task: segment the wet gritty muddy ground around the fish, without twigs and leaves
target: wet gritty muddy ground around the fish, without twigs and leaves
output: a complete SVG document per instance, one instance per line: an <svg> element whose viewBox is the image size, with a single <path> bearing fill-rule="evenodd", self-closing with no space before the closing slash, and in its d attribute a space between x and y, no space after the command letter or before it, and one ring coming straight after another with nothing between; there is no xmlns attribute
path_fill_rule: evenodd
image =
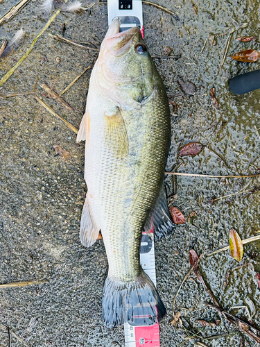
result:
<svg viewBox="0 0 260 347"><path fill-rule="evenodd" d="M18 1L0 2L0 15ZM229 58L243 49L260 49L259 1L176 0L157 3L171 8L180 20L144 4L146 43L150 52L162 55L164 48L181 54L179 60L156 59L166 90L176 104L172 112L172 144L167 170L214 175L259 173L259 97L260 90L235 96L228 80L236 74L259 68L259 62L236 62ZM89 5L90 1L83 1ZM39 1L28 1L9 22L0 26L0 38L10 38L21 27L24 43L8 58L0 60L2 77L24 55L33 38L46 24L38 12ZM54 12L53 12L54 13ZM220 61L227 35L219 35L216 45L207 43L209 33L224 34L235 25L248 23L231 37L227 59ZM107 30L107 6L96 5L80 15L62 14L44 32L28 58L0 88L0 94L33 90L35 76L49 86L55 83L60 93L97 58L97 51L58 42L49 36L59 33L70 40L90 41L99 46ZM235 37L256 36L255 42L237 42ZM50 99L37 85L40 96L55 112L78 128L85 110L89 69L63 97L75 112ZM194 96L182 94L178 76L198 87ZM218 110L209 96L216 88ZM97 105L98 107L98 105ZM48 280L31 287L0 291L0 323L10 327L30 346L112 347L124 346L123 328L108 330L101 319L103 283L107 260L103 241L86 249L78 231L83 200L87 190L83 178L84 143L60 119L49 114L33 95L0 98L0 182L1 234L0 282ZM178 150L188 142L200 142L205 149L195 157L178 158ZM55 153L54 145L69 152L69 158ZM149 179L149 178L147 178ZM177 347L187 337L171 327L173 298L190 269L189 250L209 253L228 244L230 228L242 239L257 235L259 226L259 178L166 177L168 196L180 208L186 223L155 244L157 288L168 310L160 324L161 345ZM240 191L240 192L239 192ZM238 194L235 194L239 192ZM223 197L227 196L227 197ZM220 198L214 204L213 198ZM191 212L196 217L188 222ZM256 273L260 272L260 243L245 246L238 263L229 251L204 257L200 270L216 299L225 310L247 319L247 305L253 321L260 326L260 291ZM237 266L244 265L239 269ZM229 279L225 280L229 273ZM206 346L257 346L257 343L229 325L206 306L210 298L194 276L183 285L175 310L180 310L184 325L203 336L221 335L204 340ZM255 308L254 308L255 307ZM198 319L216 322L217 327L202 328ZM185 346L194 346L191 339ZM0 346L8 346L8 334L0 328ZM12 337L12 347L23 346ZM184 346L184 344L182 345Z"/></svg>

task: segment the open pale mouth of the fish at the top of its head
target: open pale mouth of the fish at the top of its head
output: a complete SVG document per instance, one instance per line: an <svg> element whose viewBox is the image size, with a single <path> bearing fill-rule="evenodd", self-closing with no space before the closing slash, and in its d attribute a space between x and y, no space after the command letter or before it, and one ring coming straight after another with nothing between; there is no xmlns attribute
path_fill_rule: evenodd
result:
<svg viewBox="0 0 260 347"><path fill-rule="evenodd" d="M119 33L120 24L120 18L115 18L113 20L109 30L107 31L107 37L105 40L105 46L107 46L110 51L119 54L126 53L126 51L130 49L134 37L136 37L137 42L141 40L141 31L138 26L133 26L132 28Z"/></svg>

